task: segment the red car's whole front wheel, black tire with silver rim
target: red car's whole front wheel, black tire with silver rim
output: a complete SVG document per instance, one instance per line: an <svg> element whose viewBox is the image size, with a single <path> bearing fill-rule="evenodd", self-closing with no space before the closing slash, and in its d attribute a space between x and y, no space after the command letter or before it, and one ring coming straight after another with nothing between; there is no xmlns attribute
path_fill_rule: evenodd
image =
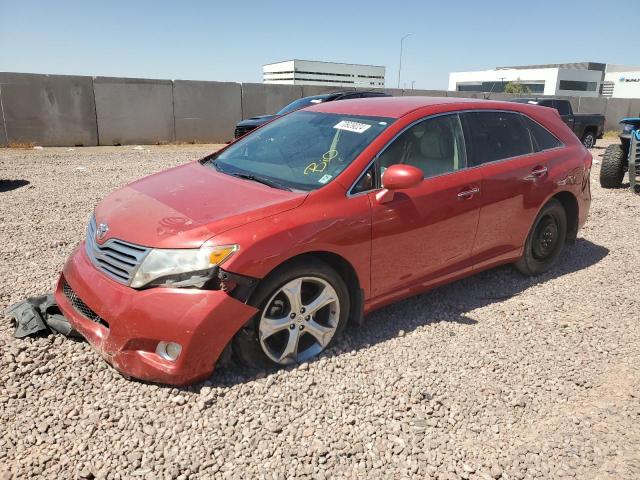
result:
<svg viewBox="0 0 640 480"><path fill-rule="evenodd" d="M236 334L233 351L241 363L253 368L310 360L334 343L349 316L344 280L316 259L276 269L250 303L260 311Z"/></svg>

